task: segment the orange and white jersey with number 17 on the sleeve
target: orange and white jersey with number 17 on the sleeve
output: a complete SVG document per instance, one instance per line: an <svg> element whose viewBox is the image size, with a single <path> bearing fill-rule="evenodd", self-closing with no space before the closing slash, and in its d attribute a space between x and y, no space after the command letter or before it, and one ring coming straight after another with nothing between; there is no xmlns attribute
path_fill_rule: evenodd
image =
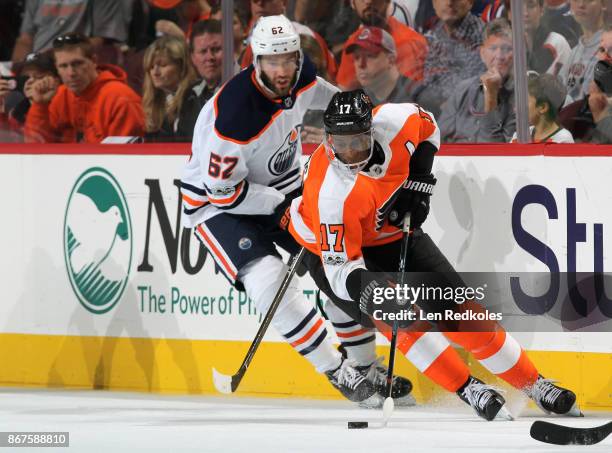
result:
<svg viewBox="0 0 612 453"><path fill-rule="evenodd" d="M373 137L384 159L351 176L331 165L320 145L304 169L302 196L291 205L291 234L321 257L332 289L347 300L346 278L366 268L361 248L401 237L386 216L408 179L412 153L424 141L440 146L433 116L416 104L383 104L373 116Z"/></svg>

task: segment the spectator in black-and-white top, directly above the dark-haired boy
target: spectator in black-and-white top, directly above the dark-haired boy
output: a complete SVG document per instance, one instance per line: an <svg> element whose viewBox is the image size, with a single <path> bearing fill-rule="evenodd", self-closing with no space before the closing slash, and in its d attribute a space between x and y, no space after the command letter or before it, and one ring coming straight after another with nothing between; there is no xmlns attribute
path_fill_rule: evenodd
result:
<svg viewBox="0 0 612 453"><path fill-rule="evenodd" d="M527 68L538 74L557 75L567 63L572 49L562 35L551 31L541 20L543 11L544 0L524 0L523 26L527 44Z"/></svg>

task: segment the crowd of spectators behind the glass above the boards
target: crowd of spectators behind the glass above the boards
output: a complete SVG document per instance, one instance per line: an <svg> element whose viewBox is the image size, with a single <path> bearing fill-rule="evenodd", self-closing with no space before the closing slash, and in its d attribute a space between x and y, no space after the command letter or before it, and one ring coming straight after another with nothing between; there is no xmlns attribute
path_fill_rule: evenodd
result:
<svg viewBox="0 0 612 453"><path fill-rule="evenodd" d="M222 82L220 3L0 0L0 142L191 141ZM285 14L340 88L420 104L444 142L516 140L509 0L234 6L236 72L259 17ZM612 143L612 0L524 0L521 17L532 141ZM320 139L309 112L302 140Z"/></svg>

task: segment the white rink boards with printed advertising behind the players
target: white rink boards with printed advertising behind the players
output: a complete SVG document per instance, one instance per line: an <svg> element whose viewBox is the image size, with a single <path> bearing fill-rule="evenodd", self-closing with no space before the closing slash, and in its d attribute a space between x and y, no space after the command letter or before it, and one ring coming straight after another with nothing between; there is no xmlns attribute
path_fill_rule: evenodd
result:
<svg viewBox="0 0 612 453"><path fill-rule="evenodd" d="M0 275L4 288L0 332L252 339L258 314L252 306L249 312L244 296L242 304L239 303L238 293L230 292L224 277L215 274L210 256L197 275L185 272L180 256L176 271L172 272L155 210L151 216L148 251L148 263L153 271L138 270L145 255L150 187L159 186L174 234L179 198L173 181L179 177L185 159L185 156L157 155L0 155L3 187L0 197L4 214L0 239ZM441 156L436 161L438 185L426 230L459 270L544 271L543 263L517 244L511 224L516 194L526 186L539 185L554 198L558 218L549 219L543 205L531 204L523 209L521 224L550 247L563 271L567 255L567 191L575 189L576 219L586 224L586 242L577 245L577 269L593 270L593 225L597 223L603 224L604 270L610 271L612 166L609 159ZM116 179L125 194L132 225L127 287L114 308L104 314L93 314L79 303L64 257L68 200L75 182L92 167L101 167ZM189 245L193 265L199 245L193 237ZM314 290L308 279L302 279L301 286L307 291ZM143 291L139 287L150 287L156 296L164 295L165 312L159 306L157 311L150 309L149 298L143 304ZM183 296L208 298L208 314L201 313L201 305L198 313L182 312L180 302L171 303L172 288L175 288L174 294L179 291ZM223 307L225 313L221 314ZM530 349L612 352L610 333L517 336ZM281 341L281 338L270 332L266 340Z"/></svg>

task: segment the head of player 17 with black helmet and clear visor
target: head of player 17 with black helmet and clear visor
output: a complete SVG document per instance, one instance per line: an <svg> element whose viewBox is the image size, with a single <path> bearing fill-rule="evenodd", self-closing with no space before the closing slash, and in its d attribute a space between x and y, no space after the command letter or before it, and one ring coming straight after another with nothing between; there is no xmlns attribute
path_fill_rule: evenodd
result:
<svg viewBox="0 0 612 453"><path fill-rule="evenodd" d="M325 150L332 165L356 175L372 157L372 102L363 90L336 93L323 116Z"/></svg>

